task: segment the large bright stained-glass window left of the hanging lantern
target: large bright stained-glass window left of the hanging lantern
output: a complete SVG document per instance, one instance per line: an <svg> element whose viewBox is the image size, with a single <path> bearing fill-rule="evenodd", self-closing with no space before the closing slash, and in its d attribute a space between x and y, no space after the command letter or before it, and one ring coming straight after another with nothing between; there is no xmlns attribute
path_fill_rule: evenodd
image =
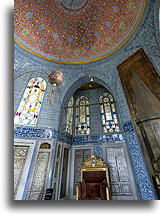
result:
<svg viewBox="0 0 160 214"><path fill-rule="evenodd" d="M29 81L14 117L15 124L36 125L45 89L46 81L41 77Z"/></svg>

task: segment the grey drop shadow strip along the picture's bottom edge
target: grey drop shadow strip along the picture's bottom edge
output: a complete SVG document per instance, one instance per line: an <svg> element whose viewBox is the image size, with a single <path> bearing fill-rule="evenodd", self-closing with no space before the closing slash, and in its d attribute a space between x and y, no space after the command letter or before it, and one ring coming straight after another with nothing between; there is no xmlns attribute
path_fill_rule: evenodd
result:
<svg viewBox="0 0 160 214"><path fill-rule="evenodd" d="M103 211L111 211L111 210L121 210L121 209L129 209L136 208L136 210L144 210L144 208L152 209L155 205L155 201L10 201L10 206L13 207L26 207L32 209L32 211L40 207L40 209L75 209L81 208L81 210L90 211L91 208L94 210L103 209Z"/></svg>

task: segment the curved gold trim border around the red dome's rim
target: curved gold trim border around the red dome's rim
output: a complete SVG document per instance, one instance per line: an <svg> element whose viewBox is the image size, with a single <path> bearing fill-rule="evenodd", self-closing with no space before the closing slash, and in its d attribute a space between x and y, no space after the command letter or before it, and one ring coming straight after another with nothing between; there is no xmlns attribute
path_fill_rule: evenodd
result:
<svg viewBox="0 0 160 214"><path fill-rule="evenodd" d="M30 50L29 48L25 47L24 45L22 45L20 42L18 42L15 38L14 38L14 42L19 45L21 48L23 48L24 50L26 50L27 52L37 56L37 57L40 57L42 59L45 59L45 60L48 60L48 61L51 61L51 62L56 62L56 63L60 63L60 64L86 64L86 63L90 63L90 62L96 62L100 59L104 59L108 56L110 56L111 54L113 54L114 52L116 52L117 50L119 50L130 38L131 36L133 35L133 33L135 32L135 30L137 29L142 17L143 17L143 14L144 14L144 11L145 11L145 8L146 8L146 5L147 5L147 0L144 0L144 5L143 5L143 8L142 8L142 12L139 16L139 19L135 25L135 27L133 28L132 32L130 33L130 35L124 40L124 42L122 42L117 48L115 48L114 50L112 50L111 52L109 52L108 54L105 54L103 56L100 56L98 58L95 58L95 59L91 59L91 60L87 60L87 61L82 61L82 62L65 62L65 61L58 61L58 60L55 60L55 59L50 59L48 57L45 57L45 56L42 56L32 50Z"/></svg>

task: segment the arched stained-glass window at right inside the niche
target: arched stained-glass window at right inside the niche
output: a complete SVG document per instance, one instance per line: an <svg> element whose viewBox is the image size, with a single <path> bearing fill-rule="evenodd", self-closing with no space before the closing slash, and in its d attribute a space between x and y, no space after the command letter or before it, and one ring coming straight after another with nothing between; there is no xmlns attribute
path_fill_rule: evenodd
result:
<svg viewBox="0 0 160 214"><path fill-rule="evenodd" d="M118 132L119 125L112 95L109 93L104 93L99 99L103 132Z"/></svg>

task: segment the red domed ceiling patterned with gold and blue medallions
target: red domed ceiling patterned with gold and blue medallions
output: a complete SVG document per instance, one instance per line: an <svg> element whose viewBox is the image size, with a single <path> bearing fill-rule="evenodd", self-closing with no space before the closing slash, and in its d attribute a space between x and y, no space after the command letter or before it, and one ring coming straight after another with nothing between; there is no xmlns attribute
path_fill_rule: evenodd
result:
<svg viewBox="0 0 160 214"><path fill-rule="evenodd" d="M55 62L87 63L118 50L146 0L15 0L15 41Z"/></svg>

